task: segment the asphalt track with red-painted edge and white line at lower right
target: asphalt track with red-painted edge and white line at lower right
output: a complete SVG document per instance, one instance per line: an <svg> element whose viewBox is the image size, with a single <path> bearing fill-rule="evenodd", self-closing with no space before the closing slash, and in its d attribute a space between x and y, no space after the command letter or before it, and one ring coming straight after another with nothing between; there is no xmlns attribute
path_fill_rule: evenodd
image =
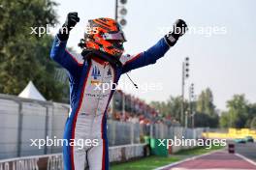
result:
<svg viewBox="0 0 256 170"><path fill-rule="evenodd" d="M254 160L254 161L253 161ZM256 170L256 144L236 144L236 154L227 150L194 156L157 170Z"/></svg>

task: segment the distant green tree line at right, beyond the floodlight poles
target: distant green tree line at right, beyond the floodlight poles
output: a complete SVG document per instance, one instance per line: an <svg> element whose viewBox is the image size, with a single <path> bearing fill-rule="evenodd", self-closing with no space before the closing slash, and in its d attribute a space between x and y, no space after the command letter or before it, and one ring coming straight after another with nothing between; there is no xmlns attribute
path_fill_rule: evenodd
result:
<svg viewBox="0 0 256 170"><path fill-rule="evenodd" d="M171 117L180 122L181 97L170 97L166 101L152 101L154 106L164 117ZM254 128L256 129L256 103L250 103L244 95L234 95L227 102L227 110L216 109L212 91L203 90L197 99L184 100L184 110L188 114L188 127L208 128Z"/></svg>

